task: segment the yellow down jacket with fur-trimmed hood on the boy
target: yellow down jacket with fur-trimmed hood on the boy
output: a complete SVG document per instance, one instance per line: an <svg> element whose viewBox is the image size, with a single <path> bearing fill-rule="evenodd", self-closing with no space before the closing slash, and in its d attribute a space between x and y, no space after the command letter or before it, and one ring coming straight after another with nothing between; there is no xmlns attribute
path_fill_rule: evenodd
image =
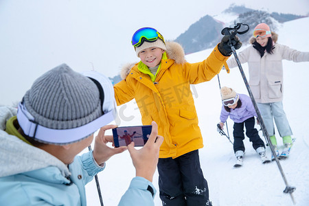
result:
<svg viewBox="0 0 309 206"><path fill-rule="evenodd" d="M155 82L137 69L137 64L122 68L123 80L114 86L117 105L135 98L144 125L157 122L159 135L164 137L160 158L176 158L203 148L203 137L190 84L206 82L220 72L229 58L218 51L218 46L203 62L185 61L183 48L178 43L166 43L168 59L161 60Z"/></svg>

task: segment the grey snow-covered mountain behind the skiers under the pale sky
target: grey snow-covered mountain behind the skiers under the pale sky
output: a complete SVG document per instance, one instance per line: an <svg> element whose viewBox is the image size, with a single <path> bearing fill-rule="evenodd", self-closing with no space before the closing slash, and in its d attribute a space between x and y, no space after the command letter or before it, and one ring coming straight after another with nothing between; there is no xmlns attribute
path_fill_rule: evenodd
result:
<svg viewBox="0 0 309 206"><path fill-rule="evenodd" d="M214 47L220 41L221 30L224 27L233 27L236 23L246 23L249 25L249 32L240 36L241 41L247 43L252 35L253 28L258 23L267 23L276 32L280 23L301 17L304 16L279 14L277 12L270 13L262 10L249 9L244 5L232 4L220 14L203 16L174 41L183 46L185 54L191 54Z"/></svg>

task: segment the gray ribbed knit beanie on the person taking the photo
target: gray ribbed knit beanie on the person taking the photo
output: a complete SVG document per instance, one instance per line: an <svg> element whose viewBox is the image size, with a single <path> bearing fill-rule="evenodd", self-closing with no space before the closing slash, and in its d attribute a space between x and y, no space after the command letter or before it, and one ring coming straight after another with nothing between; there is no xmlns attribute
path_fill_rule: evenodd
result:
<svg viewBox="0 0 309 206"><path fill-rule="evenodd" d="M38 78L23 102L35 121L47 128L76 128L103 115L98 87L65 64Z"/></svg>

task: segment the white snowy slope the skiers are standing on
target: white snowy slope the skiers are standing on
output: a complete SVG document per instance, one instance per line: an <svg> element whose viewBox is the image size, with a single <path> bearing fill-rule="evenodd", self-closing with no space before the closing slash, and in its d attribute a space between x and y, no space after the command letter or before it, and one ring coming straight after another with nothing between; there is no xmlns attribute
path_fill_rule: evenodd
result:
<svg viewBox="0 0 309 206"><path fill-rule="evenodd" d="M279 29L278 42L302 52L309 52L308 27L309 17L284 23ZM246 45L244 47L247 47ZM188 55L188 62L203 60L211 50ZM297 189L293 193L296 205L309 205L309 137L308 137L308 77L309 62L289 62L284 60L284 108L293 137L297 138L288 159L280 161L289 185ZM247 64L242 65L247 73ZM247 75L248 76L248 75ZM231 73L220 73L221 86L232 87L238 93L247 93L238 68ZM290 196L284 194L286 187L275 162L263 165L253 150L249 139L245 139L246 155L242 168L233 168L235 161L231 143L216 131L220 115L220 92L218 78L192 87L199 125L202 130L205 147L200 150L201 166L209 184L209 195L216 206L286 206L293 205ZM119 108L122 119L120 126L141 124L139 111L135 102L129 102ZM130 119L130 121L124 121ZM233 122L228 119L229 135L232 138ZM260 128L260 126L257 126ZM225 130L225 132L227 132ZM262 134L262 132L260 132ZM278 135L277 135L278 136ZM264 140L264 137L262 137ZM278 144L282 141L277 137ZM268 157L271 156L267 148ZM104 205L117 205L122 194L128 188L135 170L126 151L112 157L106 170L98 177L102 190ZM158 187L158 174L155 173L154 184ZM100 205L95 181L87 185L89 205ZM159 192L155 196L155 205L161 205Z"/></svg>

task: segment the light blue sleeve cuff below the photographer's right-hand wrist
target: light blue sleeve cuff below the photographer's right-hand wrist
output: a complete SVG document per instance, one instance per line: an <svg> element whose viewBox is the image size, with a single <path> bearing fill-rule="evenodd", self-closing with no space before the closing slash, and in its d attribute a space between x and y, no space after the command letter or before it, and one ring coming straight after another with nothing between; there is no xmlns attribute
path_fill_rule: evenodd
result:
<svg viewBox="0 0 309 206"><path fill-rule="evenodd" d="M152 187L154 195L147 190L148 186ZM155 205L153 198L155 197L156 189L152 183L144 177L136 176L132 179L128 190L122 196L118 206L152 206Z"/></svg>

